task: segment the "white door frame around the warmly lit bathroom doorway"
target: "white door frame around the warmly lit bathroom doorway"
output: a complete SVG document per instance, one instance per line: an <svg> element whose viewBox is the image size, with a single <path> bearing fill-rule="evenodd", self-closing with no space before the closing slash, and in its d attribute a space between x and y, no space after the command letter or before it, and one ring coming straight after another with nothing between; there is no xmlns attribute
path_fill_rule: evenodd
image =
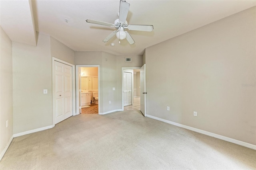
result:
<svg viewBox="0 0 256 170"><path fill-rule="evenodd" d="M79 68L80 67L98 67L98 114L100 113L100 65L76 65L76 115L80 114L80 109L79 109Z"/></svg>

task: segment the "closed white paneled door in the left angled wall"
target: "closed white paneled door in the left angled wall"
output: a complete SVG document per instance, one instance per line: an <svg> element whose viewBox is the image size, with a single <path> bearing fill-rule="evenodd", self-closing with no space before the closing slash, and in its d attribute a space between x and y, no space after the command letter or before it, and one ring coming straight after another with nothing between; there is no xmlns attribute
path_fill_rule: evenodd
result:
<svg viewBox="0 0 256 170"><path fill-rule="evenodd" d="M72 66L54 61L55 124L72 116Z"/></svg>

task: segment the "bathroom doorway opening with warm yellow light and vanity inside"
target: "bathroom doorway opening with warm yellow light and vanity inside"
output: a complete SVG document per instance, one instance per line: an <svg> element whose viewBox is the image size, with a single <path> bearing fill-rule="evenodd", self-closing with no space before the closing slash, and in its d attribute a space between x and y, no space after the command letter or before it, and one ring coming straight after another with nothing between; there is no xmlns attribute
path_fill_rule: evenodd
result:
<svg viewBox="0 0 256 170"><path fill-rule="evenodd" d="M99 114L99 65L76 66L76 114Z"/></svg>

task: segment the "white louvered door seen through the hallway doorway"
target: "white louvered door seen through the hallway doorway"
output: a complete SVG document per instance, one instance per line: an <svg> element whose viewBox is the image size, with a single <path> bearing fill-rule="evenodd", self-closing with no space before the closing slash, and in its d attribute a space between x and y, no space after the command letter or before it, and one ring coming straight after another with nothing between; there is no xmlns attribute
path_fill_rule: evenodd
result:
<svg viewBox="0 0 256 170"><path fill-rule="evenodd" d="M123 78L123 101L128 106L132 104L132 73L124 72Z"/></svg>

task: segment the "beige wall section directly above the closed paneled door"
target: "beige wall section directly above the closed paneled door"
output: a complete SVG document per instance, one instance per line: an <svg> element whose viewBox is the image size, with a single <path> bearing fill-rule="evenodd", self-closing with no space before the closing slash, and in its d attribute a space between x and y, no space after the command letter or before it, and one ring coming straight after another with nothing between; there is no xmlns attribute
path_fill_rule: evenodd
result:
<svg viewBox="0 0 256 170"><path fill-rule="evenodd" d="M51 38L51 55L70 64L75 64L75 52L53 37Z"/></svg>

